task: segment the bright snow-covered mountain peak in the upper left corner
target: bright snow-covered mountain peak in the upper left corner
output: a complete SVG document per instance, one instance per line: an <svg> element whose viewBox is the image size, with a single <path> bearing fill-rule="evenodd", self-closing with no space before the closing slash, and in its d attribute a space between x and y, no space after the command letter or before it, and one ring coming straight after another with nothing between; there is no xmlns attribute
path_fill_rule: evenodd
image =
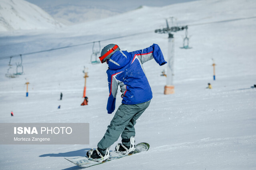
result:
<svg viewBox="0 0 256 170"><path fill-rule="evenodd" d="M0 31L62 27L38 6L25 0L0 0Z"/></svg>

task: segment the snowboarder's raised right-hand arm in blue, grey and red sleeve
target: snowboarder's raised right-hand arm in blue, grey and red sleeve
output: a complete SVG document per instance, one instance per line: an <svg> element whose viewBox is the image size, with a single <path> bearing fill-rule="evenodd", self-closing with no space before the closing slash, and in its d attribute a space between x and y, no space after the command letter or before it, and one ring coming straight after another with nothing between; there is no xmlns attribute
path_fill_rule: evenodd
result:
<svg viewBox="0 0 256 170"><path fill-rule="evenodd" d="M164 56L160 47L157 44L153 44L150 47L142 50L137 50L131 52L133 56L133 61L138 57L140 62L143 64L149 60L155 59L156 63L160 66L166 64L167 62L164 60Z"/></svg>

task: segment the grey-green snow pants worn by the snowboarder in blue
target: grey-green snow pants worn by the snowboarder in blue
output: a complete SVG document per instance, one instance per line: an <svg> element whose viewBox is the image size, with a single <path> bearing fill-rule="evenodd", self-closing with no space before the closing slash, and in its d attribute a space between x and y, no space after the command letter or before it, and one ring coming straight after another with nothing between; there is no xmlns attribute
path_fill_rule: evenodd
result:
<svg viewBox="0 0 256 170"><path fill-rule="evenodd" d="M133 105L121 104L110 125L108 125L104 137L98 143L98 149L105 151L118 140L120 135L124 140L135 136L134 125L136 124L136 120L146 110L149 104L150 101Z"/></svg>

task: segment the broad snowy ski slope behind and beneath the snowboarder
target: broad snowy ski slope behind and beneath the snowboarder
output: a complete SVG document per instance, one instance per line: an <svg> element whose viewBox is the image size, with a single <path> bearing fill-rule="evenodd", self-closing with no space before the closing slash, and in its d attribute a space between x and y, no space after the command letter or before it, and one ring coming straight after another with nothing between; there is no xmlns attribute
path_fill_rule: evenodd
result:
<svg viewBox="0 0 256 170"><path fill-rule="evenodd" d="M152 33L102 41L101 46L116 43L122 50L133 51L157 43L167 57L168 36L156 34L154 29L166 26L164 19L173 16L179 25L189 25L193 48L180 49L184 32L174 33L173 95L163 94L166 78L160 74L164 66L154 60L144 63L153 99L137 121L136 143L148 142L150 150L90 169L252 170L256 168L256 89L250 88L256 84L255 10L254 0L144 6L63 29L0 33L0 57L150 30ZM106 113L107 65L91 65L91 54L89 44L24 56L25 74L13 79L4 77L9 60L0 60L0 122L90 123L90 145L1 145L1 169L80 169L64 157L84 156L95 148L114 116ZM14 65L20 62L19 58L13 60ZM80 106L84 65L89 74L88 106ZM28 98L25 78L30 82ZM212 89L206 89L208 82ZM62 101L58 100L60 92ZM120 103L118 94L116 108ZM10 117L11 111L14 117Z"/></svg>

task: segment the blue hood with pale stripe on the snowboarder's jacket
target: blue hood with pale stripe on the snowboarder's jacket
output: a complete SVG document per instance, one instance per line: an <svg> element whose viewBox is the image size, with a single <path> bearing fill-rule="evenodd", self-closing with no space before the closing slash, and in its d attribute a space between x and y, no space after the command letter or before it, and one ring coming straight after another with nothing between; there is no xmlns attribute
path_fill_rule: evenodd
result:
<svg viewBox="0 0 256 170"><path fill-rule="evenodd" d="M126 54L125 54L126 53ZM108 67L112 70L123 68L130 62L126 51L116 51L108 61Z"/></svg>

